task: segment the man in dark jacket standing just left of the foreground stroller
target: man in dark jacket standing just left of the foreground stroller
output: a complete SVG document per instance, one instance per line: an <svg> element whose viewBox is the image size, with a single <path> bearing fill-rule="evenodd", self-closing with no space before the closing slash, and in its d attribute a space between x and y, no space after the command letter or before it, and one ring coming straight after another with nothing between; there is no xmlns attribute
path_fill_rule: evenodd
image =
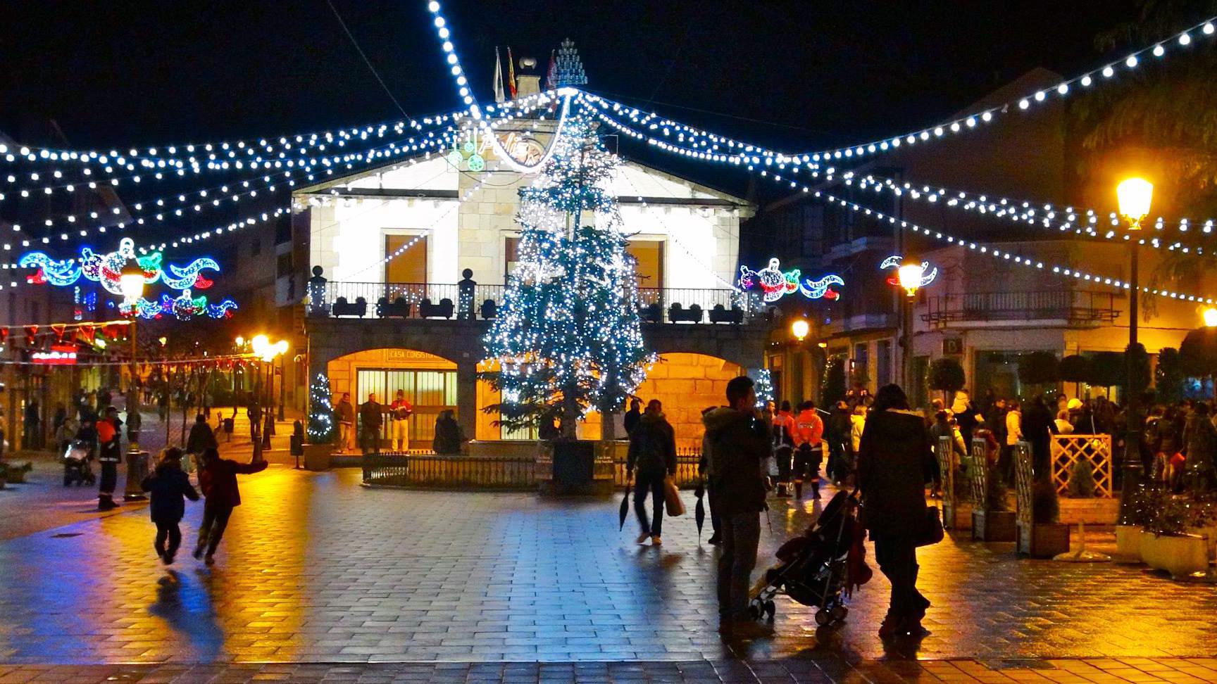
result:
<svg viewBox="0 0 1217 684"><path fill-rule="evenodd" d="M718 557L718 615L723 628L741 634L756 626L747 619L748 587L761 542L765 509L761 464L769 456L769 426L757 415L752 379L727 383L728 407L702 416L711 444L714 508L722 525Z"/></svg>

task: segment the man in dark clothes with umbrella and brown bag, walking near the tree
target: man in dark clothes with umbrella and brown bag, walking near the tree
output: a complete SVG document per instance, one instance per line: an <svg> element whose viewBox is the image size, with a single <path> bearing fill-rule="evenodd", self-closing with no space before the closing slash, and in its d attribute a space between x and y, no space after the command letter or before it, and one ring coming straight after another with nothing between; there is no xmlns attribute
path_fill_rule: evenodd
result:
<svg viewBox="0 0 1217 684"><path fill-rule="evenodd" d="M663 478L677 473L675 432L663 417L663 404L658 399L651 399L646 404L646 413L629 434L626 471L633 473L635 466L638 476L634 481L634 512L641 528L638 543L641 544L650 537L651 544L658 546L663 543L660 538L663 531ZM655 506L655 522L646 520L647 492L651 493Z"/></svg>

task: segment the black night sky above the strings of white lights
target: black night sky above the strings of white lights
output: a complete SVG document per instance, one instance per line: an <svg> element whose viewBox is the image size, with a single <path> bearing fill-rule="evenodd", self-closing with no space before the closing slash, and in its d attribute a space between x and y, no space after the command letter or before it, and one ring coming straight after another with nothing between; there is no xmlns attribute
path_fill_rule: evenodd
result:
<svg viewBox="0 0 1217 684"><path fill-rule="evenodd" d="M333 2L406 112L458 106L424 0ZM588 89L798 151L925 125L1036 66L1100 63L1095 34L1137 10L1128 0L453 0L444 13L483 100L495 44L544 65L570 37ZM325 0L11 1L5 15L0 130L18 141L39 142L47 118L74 147L125 148L400 116Z"/></svg>

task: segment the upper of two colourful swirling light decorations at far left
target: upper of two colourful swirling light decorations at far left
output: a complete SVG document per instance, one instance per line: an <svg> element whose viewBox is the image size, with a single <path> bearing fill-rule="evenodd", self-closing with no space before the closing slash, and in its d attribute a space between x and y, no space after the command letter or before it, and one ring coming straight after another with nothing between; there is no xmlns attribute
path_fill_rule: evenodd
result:
<svg viewBox="0 0 1217 684"><path fill-rule="evenodd" d="M106 254L97 254L89 247L80 250L79 259L52 259L44 252L30 252L21 258L18 265L22 268L37 268L38 271L29 282L49 282L58 287L75 284L80 276L94 282L100 282L106 292L111 295L123 295L122 275L123 265L128 259L135 259L144 269L144 282L152 285L157 281L166 284L173 290L187 290L197 287L206 290L212 281L203 277L206 269L219 270L219 264L208 257L197 258L185 267L169 264L161 267L161 252L152 252L142 257L135 254L135 242L130 237L124 237L118 242L118 250Z"/></svg>

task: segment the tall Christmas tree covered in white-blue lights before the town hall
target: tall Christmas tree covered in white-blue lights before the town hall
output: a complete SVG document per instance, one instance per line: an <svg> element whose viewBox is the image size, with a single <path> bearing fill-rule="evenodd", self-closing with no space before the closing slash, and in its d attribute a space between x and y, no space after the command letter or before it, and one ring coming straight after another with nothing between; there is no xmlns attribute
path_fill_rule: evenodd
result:
<svg viewBox="0 0 1217 684"><path fill-rule="evenodd" d="M486 336L512 430L559 421L563 437L591 407L618 410L654 361L643 348L634 259L608 181L619 163L594 124L572 114L538 180L520 191L520 263Z"/></svg>

